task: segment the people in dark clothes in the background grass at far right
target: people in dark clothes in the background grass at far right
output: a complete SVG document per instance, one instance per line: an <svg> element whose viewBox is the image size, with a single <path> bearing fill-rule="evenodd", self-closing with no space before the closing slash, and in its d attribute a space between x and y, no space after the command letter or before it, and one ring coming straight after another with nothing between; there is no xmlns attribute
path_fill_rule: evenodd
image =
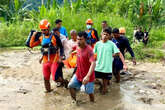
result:
<svg viewBox="0 0 165 110"><path fill-rule="evenodd" d="M134 42L143 42L144 45L147 45L148 40L149 40L149 32L147 32L146 29L144 29L144 32L142 31L142 27L135 27L134 32L133 32L133 39Z"/></svg>

